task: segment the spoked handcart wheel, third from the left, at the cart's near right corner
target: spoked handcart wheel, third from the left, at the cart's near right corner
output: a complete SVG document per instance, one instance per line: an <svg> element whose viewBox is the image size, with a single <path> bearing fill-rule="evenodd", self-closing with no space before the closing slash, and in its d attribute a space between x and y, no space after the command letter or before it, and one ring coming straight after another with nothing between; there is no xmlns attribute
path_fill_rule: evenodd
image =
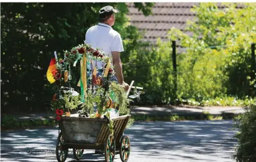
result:
<svg viewBox="0 0 256 162"><path fill-rule="evenodd" d="M110 134L105 142L104 155L106 162L113 162L116 153L116 143L114 140L114 135Z"/></svg>

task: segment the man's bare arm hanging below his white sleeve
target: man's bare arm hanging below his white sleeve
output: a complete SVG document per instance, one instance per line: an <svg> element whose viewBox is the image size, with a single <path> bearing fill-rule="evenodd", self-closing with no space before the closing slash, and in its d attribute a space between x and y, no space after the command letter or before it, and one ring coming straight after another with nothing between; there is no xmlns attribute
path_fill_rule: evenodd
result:
<svg viewBox="0 0 256 162"><path fill-rule="evenodd" d="M122 85L124 83L124 76L122 75L122 62L120 59L120 53L118 51L112 51L111 53L117 81Z"/></svg>

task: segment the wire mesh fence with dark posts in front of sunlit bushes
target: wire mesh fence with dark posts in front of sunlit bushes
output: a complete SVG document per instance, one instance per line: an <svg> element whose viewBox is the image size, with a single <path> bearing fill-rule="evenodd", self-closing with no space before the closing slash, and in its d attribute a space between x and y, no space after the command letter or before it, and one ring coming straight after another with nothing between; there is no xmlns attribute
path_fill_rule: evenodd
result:
<svg viewBox="0 0 256 162"><path fill-rule="evenodd" d="M200 49L182 48L176 46L175 41L144 42L126 54L129 59L123 64L124 78L126 82L137 80L146 88L152 88L152 82L166 83L163 80L168 78L174 97L177 93L186 93L183 94L186 97L195 97L198 93L217 96L224 92L236 96L255 95L250 85L256 71L255 44L248 47L251 50L239 51L235 45Z"/></svg>

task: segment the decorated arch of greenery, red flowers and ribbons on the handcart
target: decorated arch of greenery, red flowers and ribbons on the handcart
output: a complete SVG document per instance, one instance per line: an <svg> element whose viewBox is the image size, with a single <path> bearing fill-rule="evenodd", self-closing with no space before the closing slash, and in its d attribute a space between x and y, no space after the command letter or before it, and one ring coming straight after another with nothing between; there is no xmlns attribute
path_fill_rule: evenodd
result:
<svg viewBox="0 0 256 162"><path fill-rule="evenodd" d="M72 89L65 92L62 85L66 82L70 83L71 65L76 66L78 61L80 61L81 65L81 77L78 82L81 87L81 94L74 96L73 93L75 92ZM103 76L96 77L97 67L92 68L93 61L104 62ZM75 46L70 51L65 51L64 59L57 60L56 66L57 70L54 75L56 83L54 88L55 95L53 95L52 100L52 109L57 114L56 120L59 121L60 116L68 116L73 109L82 108L81 113L88 114L88 117L107 116L109 129L114 134L113 121L110 119L108 110L114 108L119 109L119 113L122 115L128 114L129 99L124 88L117 83L109 81L109 78L115 74L111 58L105 56L98 49L91 48L90 45L82 44ZM90 69L89 75L87 69ZM129 121L129 126L132 122L132 120Z"/></svg>

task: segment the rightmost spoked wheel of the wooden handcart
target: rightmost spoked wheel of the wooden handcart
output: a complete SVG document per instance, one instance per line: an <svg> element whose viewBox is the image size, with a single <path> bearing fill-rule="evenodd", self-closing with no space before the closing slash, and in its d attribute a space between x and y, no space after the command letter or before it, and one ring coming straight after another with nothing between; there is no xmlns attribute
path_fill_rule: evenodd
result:
<svg viewBox="0 0 256 162"><path fill-rule="evenodd" d="M122 162L126 162L130 156L130 139L127 135L123 135L120 141L119 154Z"/></svg>

